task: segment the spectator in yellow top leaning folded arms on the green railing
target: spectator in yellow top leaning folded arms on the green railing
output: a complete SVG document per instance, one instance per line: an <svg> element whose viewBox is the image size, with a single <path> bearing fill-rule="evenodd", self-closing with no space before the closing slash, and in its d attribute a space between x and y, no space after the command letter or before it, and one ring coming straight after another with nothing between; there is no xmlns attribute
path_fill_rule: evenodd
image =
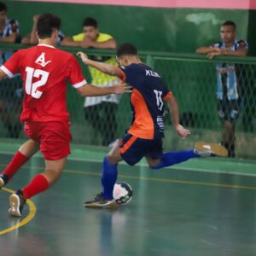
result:
<svg viewBox="0 0 256 256"><path fill-rule="evenodd" d="M61 42L65 46L77 46L83 48L97 49L116 49L116 42L112 36L99 32L97 21L93 18L86 18L83 23L83 31L72 38L66 37ZM111 56L93 55L91 59L102 61L104 63L117 65L115 59ZM89 67L92 77L91 84L99 87L111 86L117 82L116 78L104 74L96 70L94 67ZM116 137L117 121L116 111L120 96L110 95L95 97L86 97L84 101L84 117L92 125L95 131L102 134L102 145L107 146L113 142Z"/></svg>

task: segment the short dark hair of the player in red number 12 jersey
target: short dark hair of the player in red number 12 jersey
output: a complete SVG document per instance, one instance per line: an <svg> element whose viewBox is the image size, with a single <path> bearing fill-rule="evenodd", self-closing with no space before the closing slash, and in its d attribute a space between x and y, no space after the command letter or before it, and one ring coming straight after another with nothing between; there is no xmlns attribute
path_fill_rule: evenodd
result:
<svg viewBox="0 0 256 256"><path fill-rule="evenodd" d="M52 14L40 15L38 18L38 37L41 39L50 38L54 29L61 28L61 19Z"/></svg>

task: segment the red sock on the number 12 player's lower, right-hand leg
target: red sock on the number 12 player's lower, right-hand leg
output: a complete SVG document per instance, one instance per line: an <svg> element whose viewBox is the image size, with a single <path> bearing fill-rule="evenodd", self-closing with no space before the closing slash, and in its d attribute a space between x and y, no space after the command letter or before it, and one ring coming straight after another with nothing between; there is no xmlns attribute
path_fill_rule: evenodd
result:
<svg viewBox="0 0 256 256"><path fill-rule="evenodd" d="M21 190L23 192L24 198L27 199L43 192L44 190L47 190L48 188L49 182L46 177L38 174L32 178L32 181L24 189Z"/></svg>

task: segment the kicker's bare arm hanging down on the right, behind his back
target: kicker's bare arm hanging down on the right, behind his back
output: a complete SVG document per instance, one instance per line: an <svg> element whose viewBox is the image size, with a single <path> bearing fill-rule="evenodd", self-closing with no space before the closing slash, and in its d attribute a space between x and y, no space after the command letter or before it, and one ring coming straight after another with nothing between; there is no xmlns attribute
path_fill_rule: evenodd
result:
<svg viewBox="0 0 256 256"><path fill-rule="evenodd" d="M185 129L183 125L180 125L179 123L179 112L175 97L173 95L168 96L165 101L170 110L172 116L172 125L174 129L177 131L177 134L181 137L187 137L190 134L190 131Z"/></svg>

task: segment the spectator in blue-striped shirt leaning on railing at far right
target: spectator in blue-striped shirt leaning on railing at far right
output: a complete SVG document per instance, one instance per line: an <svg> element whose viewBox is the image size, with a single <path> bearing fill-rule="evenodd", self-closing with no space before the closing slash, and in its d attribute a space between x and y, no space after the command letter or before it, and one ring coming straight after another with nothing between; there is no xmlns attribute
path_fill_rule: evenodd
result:
<svg viewBox="0 0 256 256"><path fill-rule="evenodd" d="M221 42L209 47L196 49L198 54L206 54L212 59L217 55L247 55L248 44L245 40L236 39L236 24L233 21L225 21L220 28ZM217 71L217 98L218 114L223 122L222 143L229 151L230 157L235 157L235 125L239 115L242 100L242 84L239 68L233 63L218 63Z"/></svg>

